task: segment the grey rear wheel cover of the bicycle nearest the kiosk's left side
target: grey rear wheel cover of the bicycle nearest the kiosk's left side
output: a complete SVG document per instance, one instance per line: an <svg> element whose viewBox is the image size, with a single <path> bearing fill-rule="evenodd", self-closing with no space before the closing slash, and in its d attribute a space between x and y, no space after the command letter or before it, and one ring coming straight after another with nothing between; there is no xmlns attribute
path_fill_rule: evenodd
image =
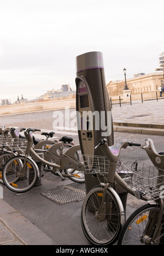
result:
<svg viewBox="0 0 164 256"><path fill-rule="evenodd" d="M68 168L76 168L77 170L79 170L79 168L81 168L81 166L78 166L79 161L77 160L77 158L75 158L75 152L77 152L78 150L80 150L80 145L74 145L67 150L67 152L63 155L61 159L61 169L65 170Z"/></svg>

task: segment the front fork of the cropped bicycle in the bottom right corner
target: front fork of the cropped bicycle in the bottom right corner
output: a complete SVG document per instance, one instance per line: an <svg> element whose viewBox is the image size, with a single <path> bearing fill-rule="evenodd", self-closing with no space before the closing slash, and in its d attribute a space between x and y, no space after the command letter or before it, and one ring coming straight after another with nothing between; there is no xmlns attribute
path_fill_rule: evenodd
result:
<svg viewBox="0 0 164 256"><path fill-rule="evenodd" d="M162 229L162 216L163 216L163 200L160 199L159 213L150 211L149 220L140 241L145 245L159 245L161 229Z"/></svg>

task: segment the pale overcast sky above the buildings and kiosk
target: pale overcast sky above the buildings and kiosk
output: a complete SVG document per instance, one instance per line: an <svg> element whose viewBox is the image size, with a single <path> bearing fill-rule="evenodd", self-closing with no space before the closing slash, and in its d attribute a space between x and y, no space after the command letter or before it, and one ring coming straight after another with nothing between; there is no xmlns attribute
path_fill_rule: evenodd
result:
<svg viewBox="0 0 164 256"><path fill-rule="evenodd" d="M0 100L69 84L78 55L103 53L106 83L152 73L164 51L163 0L0 0Z"/></svg>

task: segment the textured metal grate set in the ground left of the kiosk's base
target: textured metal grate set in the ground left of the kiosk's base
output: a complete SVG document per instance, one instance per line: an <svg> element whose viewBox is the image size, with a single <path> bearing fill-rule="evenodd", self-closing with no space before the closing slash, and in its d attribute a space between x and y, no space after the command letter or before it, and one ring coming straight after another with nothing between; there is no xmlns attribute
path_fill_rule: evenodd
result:
<svg viewBox="0 0 164 256"><path fill-rule="evenodd" d="M65 186L61 185L57 188L46 190L40 194L60 205L68 202L80 201L86 196L85 183L73 183Z"/></svg>

